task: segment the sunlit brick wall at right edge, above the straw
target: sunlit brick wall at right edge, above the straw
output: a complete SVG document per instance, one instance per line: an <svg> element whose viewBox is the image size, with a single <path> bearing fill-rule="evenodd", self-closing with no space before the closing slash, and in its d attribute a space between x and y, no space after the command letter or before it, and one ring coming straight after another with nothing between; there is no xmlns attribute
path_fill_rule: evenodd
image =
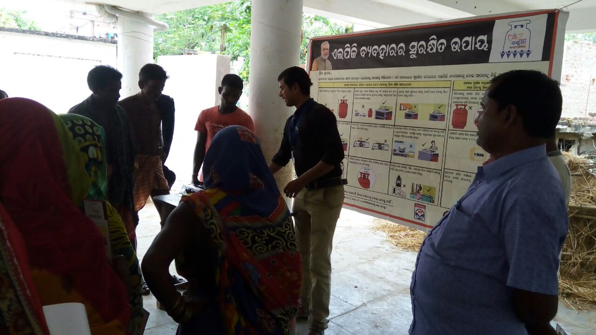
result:
<svg viewBox="0 0 596 335"><path fill-rule="evenodd" d="M596 113L596 44L566 41L561 72L563 116Z"/></svg>

